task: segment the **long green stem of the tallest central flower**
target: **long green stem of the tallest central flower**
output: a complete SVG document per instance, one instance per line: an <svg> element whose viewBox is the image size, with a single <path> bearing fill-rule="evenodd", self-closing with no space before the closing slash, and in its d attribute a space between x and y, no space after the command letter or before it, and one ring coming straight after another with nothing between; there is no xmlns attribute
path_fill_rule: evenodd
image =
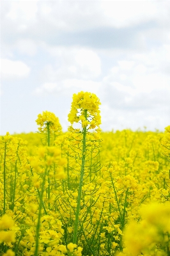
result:
<svg viewBox="0 0 170 256"><path fill-rule="evenodd" d="M87 120L87 109L84 110L84 116ZM79 182L79 191L78 191L78 198L77 198L77 209L75 212L75 224L73 229L73 243L77 243L77 230L79 225L79 212L81 209L81 194L82 194L82 182L84 176L84 165L85 165L85 158L86 158L86 127L82 130L83 139L82 139L82 163L81 163L81 177Z"/></svg>

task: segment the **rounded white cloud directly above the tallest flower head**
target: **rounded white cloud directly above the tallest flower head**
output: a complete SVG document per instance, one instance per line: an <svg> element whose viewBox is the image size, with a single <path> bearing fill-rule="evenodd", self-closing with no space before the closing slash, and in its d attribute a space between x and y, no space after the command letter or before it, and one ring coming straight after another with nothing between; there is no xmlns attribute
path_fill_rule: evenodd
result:
<svg viewBox="0 0 170 256"><path fill-rule="evenodd" d="M61 79L95 79L101 73L101 61L98 54L82 47L50 47L43 45L56 61L55 65L47 65L43 74L50 82Z"/></svg>

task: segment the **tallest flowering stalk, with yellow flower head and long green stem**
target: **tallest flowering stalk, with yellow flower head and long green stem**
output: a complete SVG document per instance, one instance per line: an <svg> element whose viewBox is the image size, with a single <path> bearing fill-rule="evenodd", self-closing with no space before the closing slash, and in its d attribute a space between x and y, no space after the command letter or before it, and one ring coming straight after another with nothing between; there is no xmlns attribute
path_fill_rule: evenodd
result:
<svg viewBox="0 0 170 256"><path fill-rule="evenodd" d="M95 135L100 132L99 125L101 124L100 110L99 110L100 100L94 93L89 92L79 92L73 94L73 101L71 106L71 111L68 114L68 121L73 125L73 123L81 124L82 128L74 129L73 126L69 128L69 131L73 133L82 134L82 157L81 157L81 173L79 180L79 189L77 196L77 207L75 209L75 223L73 228L73 243L77 243L77 231L79 227L79 213L81 209L81 196L82 196L82 184L84 178L84 166L86 162L86 137L89 130L94 129Z"/></svg>

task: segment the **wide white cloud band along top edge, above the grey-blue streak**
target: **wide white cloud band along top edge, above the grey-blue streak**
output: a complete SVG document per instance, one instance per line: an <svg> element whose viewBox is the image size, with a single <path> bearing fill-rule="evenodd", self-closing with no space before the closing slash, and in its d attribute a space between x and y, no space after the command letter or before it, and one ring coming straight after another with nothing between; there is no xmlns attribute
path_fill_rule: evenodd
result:
<svg viewBox="0 0 170 256"><path fill-rule="evenodd" d="M6 3L7 2L7 3ZM169 6L163 1L3 1L8 6L5 22L16 31L46 37L56 31L76 32L98 28L127 28L146 22L169 22ZM165 5L166 5L165 4Z"/></svg>

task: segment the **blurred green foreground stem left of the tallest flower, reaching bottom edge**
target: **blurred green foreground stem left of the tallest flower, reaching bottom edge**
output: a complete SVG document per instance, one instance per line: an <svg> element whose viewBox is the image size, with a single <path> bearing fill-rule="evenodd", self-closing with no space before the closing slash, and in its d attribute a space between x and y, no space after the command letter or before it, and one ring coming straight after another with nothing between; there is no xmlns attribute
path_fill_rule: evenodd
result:
<svg viewBox="0 0 170 256"><path fill-rule="evenodd" d="M39 212L38 212L38 222L36 225L36 245L35 245L35 256L38 256L38 245L39 245L39 232L40 232L40 220L42 216L42 207L43 207L43 191L45 186L45 176L47 173L47 169L45 169L43 182L42 182L42 191L40 193L40 205L39 205Z"/></svg>

